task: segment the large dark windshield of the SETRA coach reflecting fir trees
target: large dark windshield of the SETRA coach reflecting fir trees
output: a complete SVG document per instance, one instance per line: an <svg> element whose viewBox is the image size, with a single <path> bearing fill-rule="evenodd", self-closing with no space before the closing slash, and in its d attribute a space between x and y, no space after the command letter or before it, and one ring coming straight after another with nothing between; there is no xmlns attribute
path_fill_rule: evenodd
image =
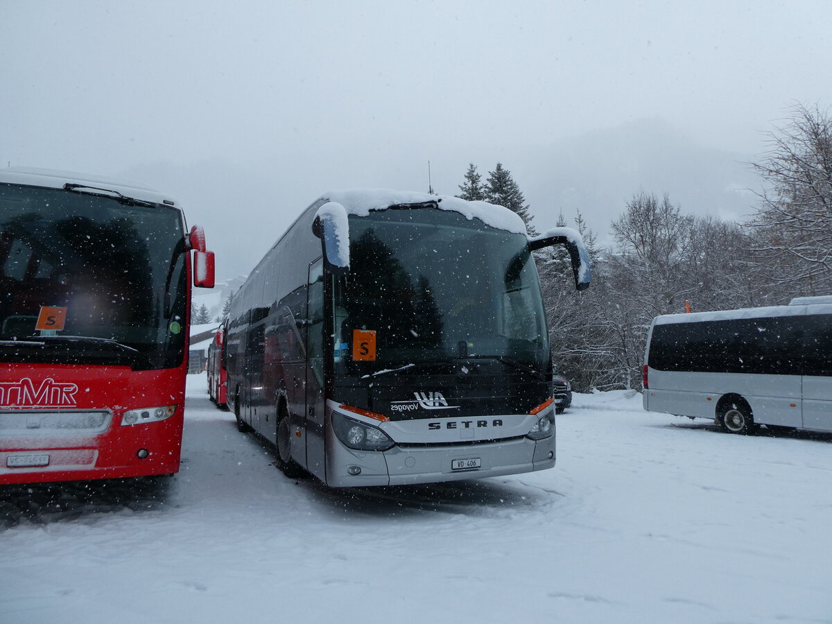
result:
<svg viewBox="0 0 832 624"><path fill-rule="evenodd" d="M525 235L423 207L350 215L349 241L349 272L334 288L336 373L488 358L544 368L549 343ZM374 358L358 352L354 338L366 334L357 330L375 332Z"/></svg>

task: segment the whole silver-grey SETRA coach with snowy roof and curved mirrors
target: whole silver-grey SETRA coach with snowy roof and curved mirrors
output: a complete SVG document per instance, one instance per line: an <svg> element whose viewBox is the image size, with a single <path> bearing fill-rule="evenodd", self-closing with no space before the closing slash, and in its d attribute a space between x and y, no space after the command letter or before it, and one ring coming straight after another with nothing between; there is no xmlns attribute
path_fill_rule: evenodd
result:
<svg viewBox="0 0 832 624"><path fill-rule="evenodd" d="M331 486L551 468L552 359L529 238L511 210L396 191L328 193L232 300L228 404L285 473Z"/></svg>

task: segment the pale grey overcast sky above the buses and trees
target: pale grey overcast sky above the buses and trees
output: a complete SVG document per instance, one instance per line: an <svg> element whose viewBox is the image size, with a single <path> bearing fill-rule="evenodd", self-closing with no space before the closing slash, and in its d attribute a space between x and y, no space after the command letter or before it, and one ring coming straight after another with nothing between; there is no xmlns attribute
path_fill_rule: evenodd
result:
<svg viewBox="0 0 832 624"><path fill-rule="evenodd" d="M453 194L502 160L547 226L536 154L652 120L751 159L790 104L830 106L830 24L829 0L0 0L0 163L144 174L220 275L330 188L427 190L428 161Z"/></svg>

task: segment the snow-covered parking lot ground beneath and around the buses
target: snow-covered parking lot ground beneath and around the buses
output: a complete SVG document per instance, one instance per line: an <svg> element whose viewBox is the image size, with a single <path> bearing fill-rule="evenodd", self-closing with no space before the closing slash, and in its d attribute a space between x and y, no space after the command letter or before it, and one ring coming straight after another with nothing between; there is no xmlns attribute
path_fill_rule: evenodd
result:
<svg viewBox="0 0 832 624"><path fill-rule="evenodd" d="M0 622L832 622L832 436L576 394L552 470L338 491L205 384L176 477L0 489Z"/></svg>

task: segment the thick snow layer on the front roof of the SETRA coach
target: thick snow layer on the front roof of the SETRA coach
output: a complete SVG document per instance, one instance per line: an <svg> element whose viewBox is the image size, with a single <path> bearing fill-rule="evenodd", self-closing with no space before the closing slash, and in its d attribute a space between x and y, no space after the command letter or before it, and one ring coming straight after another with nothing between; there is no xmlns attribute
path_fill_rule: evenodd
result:
<svg viewBox="0 0 832 624"><path fill-rule="evenodd" d="M488 201L468 201L459 197L430 195L419 191L391 191L389 189L354 189L329 191L322 199L344 206L347 215L367 216L370 210L386 210L398 204L421 204L426 201L438 202L440 210L453 210L466 219L477 218L485 225L508 230L515 234L527 235L526 224L513 210L504 206L489 204Z"/></svg>

